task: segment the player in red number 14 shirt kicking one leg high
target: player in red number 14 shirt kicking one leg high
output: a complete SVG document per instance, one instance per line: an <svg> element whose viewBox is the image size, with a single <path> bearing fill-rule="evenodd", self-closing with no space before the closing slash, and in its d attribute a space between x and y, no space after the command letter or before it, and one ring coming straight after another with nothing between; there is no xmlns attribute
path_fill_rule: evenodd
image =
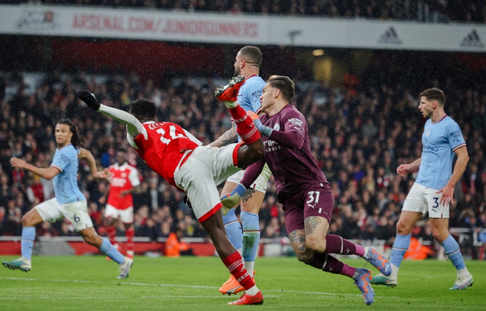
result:
<svg viewBox="0 0 486 311"><path fill-rule="evenodd" d="M261 291L245 269L241 255L226 237L217 189L227 177L265 154L253 120L235 102L243 81L242 76L234 77L216 93L219 100L225 101L242 140L240 144L221 148L201 146L200 141L175 123L155 123L156 107L146 99L133 101L128 113L100 105L89 91L80 91L77 96L92 109L126 124L128 141L140 157L171 185L187 194L194 214L208 231L218 255L245 288L245 294L230 304L262 304Z"/></svg>

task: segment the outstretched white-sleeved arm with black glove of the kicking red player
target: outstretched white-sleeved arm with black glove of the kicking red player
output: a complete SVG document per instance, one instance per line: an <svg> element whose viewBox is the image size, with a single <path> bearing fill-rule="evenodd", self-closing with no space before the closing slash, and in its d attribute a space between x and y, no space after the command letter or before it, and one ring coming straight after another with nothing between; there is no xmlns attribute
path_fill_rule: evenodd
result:
<svg viewBox="0 0 486 311"><path fill-rule="evenodd" d="M108 107L99 104L98 101L96 100L95 95L89 91L86 90L79 91L77 92L76 95L80 100L85 102L91 109L101 112L102 114L107 115L110 118L113 118L116 121L127 125L127 131L131 137L137 137L142 132L143 130L142 122L140 122L136 117L134 117L130 113L113 107Z"/></svg>

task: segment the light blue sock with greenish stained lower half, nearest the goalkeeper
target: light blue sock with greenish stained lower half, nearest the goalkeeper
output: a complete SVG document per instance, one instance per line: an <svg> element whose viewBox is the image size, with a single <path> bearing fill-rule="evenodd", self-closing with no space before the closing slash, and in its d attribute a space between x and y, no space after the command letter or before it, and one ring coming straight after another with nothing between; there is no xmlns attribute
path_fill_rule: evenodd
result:
<svg viewBox="0 0 486 311"><path fill-rule="evenodd" d="M242 211L241 224L243 225L243 264L248 273L252 275L260 242L260 220L257 214Z"/></svg>

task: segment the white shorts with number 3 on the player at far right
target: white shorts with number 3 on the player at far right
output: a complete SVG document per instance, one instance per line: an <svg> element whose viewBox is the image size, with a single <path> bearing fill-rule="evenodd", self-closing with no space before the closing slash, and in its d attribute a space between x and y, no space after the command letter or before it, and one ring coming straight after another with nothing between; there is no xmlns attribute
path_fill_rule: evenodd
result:
<svg viewBox="0 0 486 311"><path fill-rule="evenodd" d="M418 212L426 214L429 212L429 218L449 218L449 204L441 205L441 193L436 193L437 189L427 188L414 183L410 189L407 198L403 202L401 210Z"/></svg>

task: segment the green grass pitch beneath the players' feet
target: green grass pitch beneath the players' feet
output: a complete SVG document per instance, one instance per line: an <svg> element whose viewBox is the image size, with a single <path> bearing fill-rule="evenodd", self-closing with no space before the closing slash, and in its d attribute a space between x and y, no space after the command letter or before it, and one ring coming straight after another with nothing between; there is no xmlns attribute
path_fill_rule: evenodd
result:
<svg viewBox="0 0 486 311"><path fill-rule="evenodd" d="M12 260L13 256L0 257ZM293 257L257 258L261 306L231 306L240 294L218 288L229 273L217 257L135 257L130 278L102 256L36 256L28 273L0 266L0 310L484 310L486 262L467 261L474 285L449 291L456 272L449 261L403 261L398 286L374 286L365 305L351 279L324 273ZM364 260L344 260L362 267ZM376 274L369 263L367 268Z"/></svg>

